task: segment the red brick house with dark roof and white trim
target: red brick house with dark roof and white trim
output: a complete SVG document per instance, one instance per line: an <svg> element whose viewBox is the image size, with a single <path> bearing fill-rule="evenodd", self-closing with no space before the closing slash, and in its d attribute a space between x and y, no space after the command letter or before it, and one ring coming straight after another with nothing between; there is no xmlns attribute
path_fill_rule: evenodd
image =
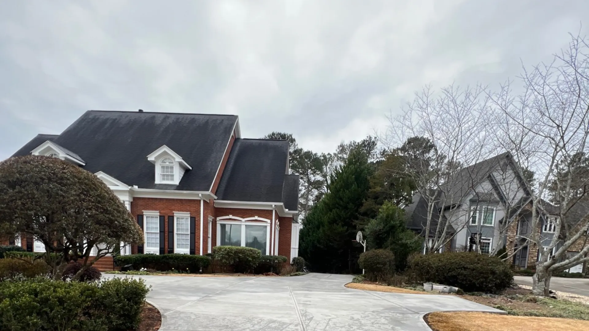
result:
<svg viewBox="0 0 589 331"><path fill-rule="evenodd" d="M289 174L289 143L241 138L235 115L87 111L12 156L27 154L77 164L117 194L145 234L122 254L203 255L231 245L298 255L299 176Z"/></svg>

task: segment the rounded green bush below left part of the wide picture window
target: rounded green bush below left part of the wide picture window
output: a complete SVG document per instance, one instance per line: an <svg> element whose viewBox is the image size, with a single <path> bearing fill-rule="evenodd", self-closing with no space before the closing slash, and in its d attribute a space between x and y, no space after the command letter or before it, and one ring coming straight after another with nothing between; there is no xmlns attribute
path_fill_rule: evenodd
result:
<svg viewBox="0 0 589 331"><path fill-rule="evenodd" d="M213 259L225 266L233 267L237 273L249 273L262 260L262 251L251 247L215 246Z"/></svg>

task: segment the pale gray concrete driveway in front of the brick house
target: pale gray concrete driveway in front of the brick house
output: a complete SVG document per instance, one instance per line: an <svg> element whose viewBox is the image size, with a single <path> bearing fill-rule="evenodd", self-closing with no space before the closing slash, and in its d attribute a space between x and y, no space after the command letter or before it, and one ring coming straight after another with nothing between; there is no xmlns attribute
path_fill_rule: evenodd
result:
<svg viewBox="0 0 589 331"><path fill-rule="evenodd" d="M352 277L336 274L133 277L152 286L147 299L163 314L161 331L430 330L425 313L501 312L456 296L348 289Z"/></svg>

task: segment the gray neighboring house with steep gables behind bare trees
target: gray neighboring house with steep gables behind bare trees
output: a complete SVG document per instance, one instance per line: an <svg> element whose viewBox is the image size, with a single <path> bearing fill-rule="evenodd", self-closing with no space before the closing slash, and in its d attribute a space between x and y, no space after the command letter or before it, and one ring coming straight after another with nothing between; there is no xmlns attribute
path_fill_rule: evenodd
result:
<svg viewBox="0 0 589 331"><path fill-rule="evenodd" d="M531 194L519 166L509 153L463 168L435 194L415 194L413 202L405 207L407 226L422 236L425 235L429 203L435 206L432 208L428 240L434 240L436 231L437 237L441 235L445 222L449 222L446 233L449 236L454 234L439 251L477 250L478 244L481 252L488 254L503 247L508 252L522 247L512 259L512 263L521 269L533 268L540 258L535 244L516 235L528 236L532 233ZM542 215L538 230L544 237L543 246L546 247L555 240L554 219L558 215L558 208L547 201L544 203L544 209L549 214ZM581 214L587 214L584 211L578 213L580 217ZM439 221L441 224L438 229ZM571 246L571 253L580 251L587 241L587 236L582 237ZM557 244L555 250L559 247ZM568 271L582 270L583 265L579 264Z"/></svg>

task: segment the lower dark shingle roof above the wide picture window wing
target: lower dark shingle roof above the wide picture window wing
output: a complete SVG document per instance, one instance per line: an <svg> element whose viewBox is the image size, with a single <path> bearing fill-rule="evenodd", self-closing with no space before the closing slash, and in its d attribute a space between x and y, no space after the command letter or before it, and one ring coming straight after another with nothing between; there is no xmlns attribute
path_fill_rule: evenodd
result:
<svg viewBox="0 0 589 331"><path fill-rule="evenodd" d="M285 179L288 186L294 187L293 179L286 176L288 153L286 140L237 138L217 188L217 197L227 201L282 202ZM297 185L297 200L298 190ZM286 196L291 204L292 194Z"/></svg>

